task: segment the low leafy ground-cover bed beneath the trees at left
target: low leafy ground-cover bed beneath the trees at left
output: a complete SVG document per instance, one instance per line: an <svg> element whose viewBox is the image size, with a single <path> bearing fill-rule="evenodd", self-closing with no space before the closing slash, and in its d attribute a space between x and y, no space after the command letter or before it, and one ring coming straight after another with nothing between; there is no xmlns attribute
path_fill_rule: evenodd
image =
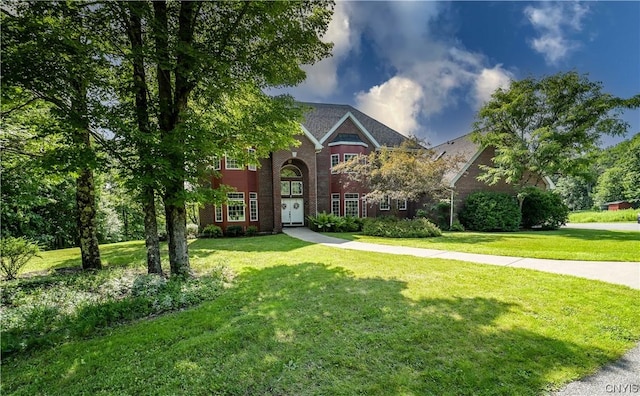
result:
<svg viewBox="0 0 640 396"><path fill-rule="evenodd" d="M2 354L95 336L115 325L210 301L233 277L218 264L188 279L108 269L7 282L1 306Z"/></svg>

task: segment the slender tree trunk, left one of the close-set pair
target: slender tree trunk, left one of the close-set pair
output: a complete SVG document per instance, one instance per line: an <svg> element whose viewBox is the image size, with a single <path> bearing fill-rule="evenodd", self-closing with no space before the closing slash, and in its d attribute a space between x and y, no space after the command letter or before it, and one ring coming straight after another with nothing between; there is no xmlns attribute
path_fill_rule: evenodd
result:
<svg viewBox="0 0 640 396"><path fill-rule="evenodd" d="M150 180L154 180L153 166L150 165L152 150L149 147L147 137L151 134L149 127L149 104L147 101L147 77L144 68L144 46L142 41L142 13L141 4L127 3L130 7L127 35L131 42L133 54L133 83L136 94L136 118L138 129L143 135L136 139L138 155L142 162L142 194L140 195L144 211L144 234L147 248L147 272L150 274L162 274L162 262L160 259L160 240L158 238L158 221L156 218L155 189Z"/></svg>

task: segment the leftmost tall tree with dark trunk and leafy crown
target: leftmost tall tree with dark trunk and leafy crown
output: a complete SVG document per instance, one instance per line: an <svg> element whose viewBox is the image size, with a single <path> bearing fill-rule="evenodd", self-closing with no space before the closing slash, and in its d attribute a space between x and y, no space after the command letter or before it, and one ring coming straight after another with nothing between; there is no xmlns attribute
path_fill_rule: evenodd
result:
<svg viewBox="0 0 640 396"><path fill-rule="evenodd" d="M76 176L76 216L84 269L102 267L96 235L92 113L103 61L90 26L97 23L83 3L20 2L2 6L2 85L22 89L23 108L52 104L63 125Z"/></svg>

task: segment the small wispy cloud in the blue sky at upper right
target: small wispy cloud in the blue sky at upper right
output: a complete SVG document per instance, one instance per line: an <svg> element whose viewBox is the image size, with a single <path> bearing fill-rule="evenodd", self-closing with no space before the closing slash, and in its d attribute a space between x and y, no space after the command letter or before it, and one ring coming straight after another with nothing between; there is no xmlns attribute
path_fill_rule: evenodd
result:
<svg viewBox="0 0 640 396"><path fill-rule="evenodd" d="M568 36L582 30L582 21L588 12L587 5L577 2L526 7L524 14L539 33L539 37L531 40L531 47L541 53L548 64L558 64L580 46Z"/></svg>

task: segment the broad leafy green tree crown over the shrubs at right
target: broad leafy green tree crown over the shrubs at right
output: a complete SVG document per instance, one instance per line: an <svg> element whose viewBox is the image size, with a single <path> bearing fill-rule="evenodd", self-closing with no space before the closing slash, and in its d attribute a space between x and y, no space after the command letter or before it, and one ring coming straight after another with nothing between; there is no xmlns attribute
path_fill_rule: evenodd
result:
<svg viewBox="0 0 640 396"><path fill-rule="evenodd" d="M601 83L576 72L512 81L476 116L472 138L496 148L493 166L483 166L480 178L522 188L541 176L584 176L601 136L623 135L622 111L639 101L640 95L624 100L604 93Z"/></svg>

